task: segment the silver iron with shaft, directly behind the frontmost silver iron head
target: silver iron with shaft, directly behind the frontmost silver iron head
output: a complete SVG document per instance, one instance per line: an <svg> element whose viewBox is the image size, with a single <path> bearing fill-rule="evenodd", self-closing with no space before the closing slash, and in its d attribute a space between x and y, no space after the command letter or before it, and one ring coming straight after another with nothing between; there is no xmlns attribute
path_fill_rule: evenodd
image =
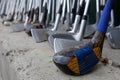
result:
<svg viewBox="0 0 120 80"><path fill-rule="evenodd" d="M73 26L73 29L71 30L71 32L64 32L64 33L61 33L61 32L59 32L59 33L54 33L54 34L52 34L52 35L50 35L49 37L48 37L48 41L49 41L49 43L50 43L50 45L51 45L51 47L54 47L54 39L55 38L65 38L65 39L70 39L70 40L73 40L74 38L72 37L72 35L74 35L75 33L76 33L76 30L77 30L77 26L78 26L78 24L79 24L79 21L80 21L80 18L82 17L82 12L84 12L84 7L83 7L83 4L84 4L84 0L81 0L80 1L80 4L79 4L79 6L78 6L78 11L77 11L77 15L76 15L76 18L75 18L75 22L74 22L74 26ZM68 35L70 36L70 37L68 37ZM72 38L71 38L72 37Z"/></svg>

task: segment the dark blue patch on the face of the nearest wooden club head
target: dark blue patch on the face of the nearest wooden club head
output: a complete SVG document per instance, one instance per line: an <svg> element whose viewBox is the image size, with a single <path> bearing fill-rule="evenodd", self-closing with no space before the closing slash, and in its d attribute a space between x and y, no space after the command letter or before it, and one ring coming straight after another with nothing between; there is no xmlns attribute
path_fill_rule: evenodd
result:
<svg viewBox="0 0 120 80"><path fill-rule="evenodd" d="M85 74L90 71L99 61L92 48L89 46L75 51L75 55L78 60L80 74Z"/></svg>

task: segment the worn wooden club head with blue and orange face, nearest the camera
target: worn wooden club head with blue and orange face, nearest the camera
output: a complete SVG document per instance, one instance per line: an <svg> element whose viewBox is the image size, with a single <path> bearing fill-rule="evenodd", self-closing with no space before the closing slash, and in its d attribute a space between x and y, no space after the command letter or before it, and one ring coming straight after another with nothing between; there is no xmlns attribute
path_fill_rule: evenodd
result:
<svg viewBox="0 0 120 80"><path fill-rule="evenodd" d="M53 56L53 61L66 74L83 75L90 72L99 60L92 48L87 46L61 51Z"/></svg>

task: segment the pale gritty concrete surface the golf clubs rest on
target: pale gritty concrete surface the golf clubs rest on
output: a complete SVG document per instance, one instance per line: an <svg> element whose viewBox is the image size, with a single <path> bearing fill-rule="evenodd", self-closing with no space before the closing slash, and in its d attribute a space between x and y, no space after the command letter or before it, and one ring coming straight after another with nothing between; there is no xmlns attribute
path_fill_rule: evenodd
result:
<svg viewBox="0 0 120 80"><path fill-rule="evenodd" d="M14 33L11 27L1 24L0 48L1 56L9 63L6 63L8 67L4 65L4 68L10 67L6 77L12 74L14 80L120 80L120 68L102 63L86 75L64 74L53 64L54 51L48 42L35 43L25 32ZM103 56L120 63L120 50L111 49L107 40L105 40Z"/></svg>

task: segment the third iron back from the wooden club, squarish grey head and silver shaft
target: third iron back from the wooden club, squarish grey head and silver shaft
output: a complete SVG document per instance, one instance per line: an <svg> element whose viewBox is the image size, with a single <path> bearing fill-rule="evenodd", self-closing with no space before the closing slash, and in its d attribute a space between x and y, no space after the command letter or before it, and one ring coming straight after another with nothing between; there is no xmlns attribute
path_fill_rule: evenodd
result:
<svg viewBox="0 0 120 80"><path fill-rule="evenodd" d="M32 36L35 40L35 42L43 42L47 40L48 31L55 31L58 29L58 23L60 21L60 16L62 13L62 6L63 6L63 0L61 0L58 13L56 15L56 21L54 24L54 27L51 29L50 27L46 27L45 29L31 29Z"/></svg>

